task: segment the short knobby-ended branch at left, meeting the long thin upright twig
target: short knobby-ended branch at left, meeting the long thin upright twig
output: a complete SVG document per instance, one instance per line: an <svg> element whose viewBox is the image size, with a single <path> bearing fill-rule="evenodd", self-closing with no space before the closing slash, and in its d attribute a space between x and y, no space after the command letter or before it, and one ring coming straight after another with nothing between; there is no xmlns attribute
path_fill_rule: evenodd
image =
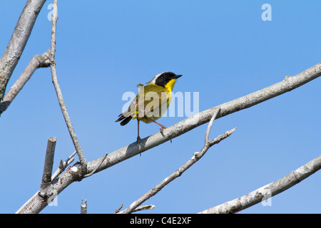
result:
<svg viewBox="0 0 321 228"><path fill-rule="evenodd" d="M3 113L11 104L12 100L16 98L16 95L24 87L26 82L31 78L34 71L37 68L48 67L50 66L49 61L49 50L43 53L42 55L36 55L31 58L28 66L24 69L24 72L21 73L21 76L16 80L10 90L4 95L4 99L0 102L0 114Z"/></svg>

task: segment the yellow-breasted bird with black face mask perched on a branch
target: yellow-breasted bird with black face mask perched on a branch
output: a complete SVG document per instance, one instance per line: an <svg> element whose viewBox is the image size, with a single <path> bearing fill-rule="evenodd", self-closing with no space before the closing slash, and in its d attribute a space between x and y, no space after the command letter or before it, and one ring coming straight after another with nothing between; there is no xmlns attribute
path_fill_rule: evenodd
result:
<svg viewBox="0 0 321 228"><path fill-rule="evenodd" d="M138 94L133 99L128 110L118 115L115 122L121 121L121 126L126 125L132 119L137 120L137 142L141 140L139 136L139 122L156 123L161 126L161 132L166 128L161 123L156 122L166 112L172 98L172 90L175 82L182 75L166 71L158 73L147 86L138 84Z"/></svg>

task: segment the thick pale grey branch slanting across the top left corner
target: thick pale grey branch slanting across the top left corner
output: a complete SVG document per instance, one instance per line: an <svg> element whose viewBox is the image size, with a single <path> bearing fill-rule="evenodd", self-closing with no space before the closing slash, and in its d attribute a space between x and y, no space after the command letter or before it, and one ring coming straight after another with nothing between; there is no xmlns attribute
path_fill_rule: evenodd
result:
<svg viewBox="0 0 321 228"><path fill-rule="evenodd" d="M29 39L34 22L46 0L29 0L21 12L11 39L0 59L0 101L4 98L6 85L16 68L26 42Z"/></svg>

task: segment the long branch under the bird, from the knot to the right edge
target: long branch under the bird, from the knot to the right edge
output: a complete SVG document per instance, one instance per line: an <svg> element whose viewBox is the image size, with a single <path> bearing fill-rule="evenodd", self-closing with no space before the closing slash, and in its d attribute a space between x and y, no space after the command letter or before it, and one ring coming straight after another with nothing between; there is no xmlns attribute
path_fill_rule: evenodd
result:
<svg viewBox="0 0 321 228"><path fill-rule="evenodd" d="M281 95L282 93L286 93L320 76L321 63L317 63L317 65L312 66L302 73L298 73L296 76L285 77L285 79L280 83L276 83L272 86L268 86L267 88L263 88L254 93L250 93L243 97L219 105L221 110L220 113L218 113L217 119L222 118L225 115L238 112L245 108L250 108L253 105L262 103L263 101L274 98L277 95ZM182 120L179 123L166 128L165 130L163 130L163 133L158 132L146 138L143 138L141 139L141 142L139 144L135 141L130 145L126 145L125 147L109 153L108 161L103 162L103 164L101 164L96 172L116 165L118 162L122 162L123 160L138 155L141 152L161 145L163 142L167 142L170 139L176 138L179 135L188 132L189 130L193 130L194 128L197 128L204 123L208 123L208 121L210 121L210 118L213 116L213 112L216 108L218 108L218 106L209 108L208 110L204 110L198 114L191 116L190 118L186 118L185 120ZM88 172L91 172L91 170L96 168L100 161L101 158L88 162Z"/></svg>

